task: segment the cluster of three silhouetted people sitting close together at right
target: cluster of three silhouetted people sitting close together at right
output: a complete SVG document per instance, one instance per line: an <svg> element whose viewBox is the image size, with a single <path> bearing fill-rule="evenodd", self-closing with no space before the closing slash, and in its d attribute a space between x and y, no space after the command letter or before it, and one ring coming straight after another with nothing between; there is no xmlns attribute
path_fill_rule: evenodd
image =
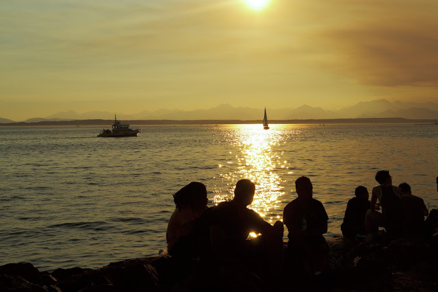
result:
<svg viewBox="0 0 438 292"><path fill-rule="evenodd" d="M376 181L379 185L372 188L371 201L365 186L356 188L355 197L347 204L342 234L361 241L382 228L390 239L425 239L424 217L428 210L423 199L413 195L406 182L393 186L389 171L378 171Z"/></svg>

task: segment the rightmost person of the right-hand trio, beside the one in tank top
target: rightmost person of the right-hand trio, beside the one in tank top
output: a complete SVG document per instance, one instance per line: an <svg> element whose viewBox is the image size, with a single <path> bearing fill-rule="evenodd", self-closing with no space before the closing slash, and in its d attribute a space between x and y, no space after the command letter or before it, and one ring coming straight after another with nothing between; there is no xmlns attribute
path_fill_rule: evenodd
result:
<svg viewBox="0 0 438 292"><path fill-rule="evenodd" d="M422 238L424 236L424 216L429 215L426 205L421 197L412 195L411 186L406 182L398 187L401 191L404 235Z"/></svg>

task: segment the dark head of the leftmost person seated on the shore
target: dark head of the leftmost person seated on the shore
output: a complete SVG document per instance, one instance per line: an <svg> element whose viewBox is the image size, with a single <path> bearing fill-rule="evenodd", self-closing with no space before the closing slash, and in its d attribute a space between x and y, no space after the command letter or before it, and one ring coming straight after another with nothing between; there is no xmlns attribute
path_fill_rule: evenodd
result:
<svg viewBox="0 0 438 292"><path fill-rule="evenodd" d="M207 207L207 188L202 182L190 182L173 195L177 208L190 206L193 210L204 210Z"/></svg>

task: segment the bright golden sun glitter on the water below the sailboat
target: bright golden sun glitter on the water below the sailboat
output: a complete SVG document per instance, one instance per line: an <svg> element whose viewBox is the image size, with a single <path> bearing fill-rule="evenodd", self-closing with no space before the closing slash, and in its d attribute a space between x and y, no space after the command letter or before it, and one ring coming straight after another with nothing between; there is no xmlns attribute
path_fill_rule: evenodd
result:
<svg viewBox="0 0 438 292"><path fill-rule="evenodd" d="M281 197L285 194L282 181L276 168L287 169L287 161L281 160L281 154L272 150L281 140L281 132L276 130L276 125L271 125L270 130L263 130L261 125L235 125L233 136L229 137L231 143L238 149L234 160L230 164L237 164L234 171L222 173L224 178L234 182L247 178L256 185L254 202L249 208L258 212L263 218L273 223L281 219L278 211ZM214 203L218 204L233 198L235 185L230 193L218 193L214 196Z"/></svg>

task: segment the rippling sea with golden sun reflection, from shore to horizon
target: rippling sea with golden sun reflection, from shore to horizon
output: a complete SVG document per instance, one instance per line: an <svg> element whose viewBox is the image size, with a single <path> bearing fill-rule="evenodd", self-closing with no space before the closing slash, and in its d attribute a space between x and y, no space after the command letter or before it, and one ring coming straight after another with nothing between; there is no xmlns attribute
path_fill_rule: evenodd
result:
<svg viewBox="0 0 438 292"><path fill-rule="evenodd" d="M0 265L101 267L166 248L172 194L191 181L209 205L256 183L250 206L282 219L307 175L341 234L355 188L387 169L437 208L437 125L140 126L137 138L98 138L99 127L0 127ZM285 231L285 239L287 239Z"/></svg>

